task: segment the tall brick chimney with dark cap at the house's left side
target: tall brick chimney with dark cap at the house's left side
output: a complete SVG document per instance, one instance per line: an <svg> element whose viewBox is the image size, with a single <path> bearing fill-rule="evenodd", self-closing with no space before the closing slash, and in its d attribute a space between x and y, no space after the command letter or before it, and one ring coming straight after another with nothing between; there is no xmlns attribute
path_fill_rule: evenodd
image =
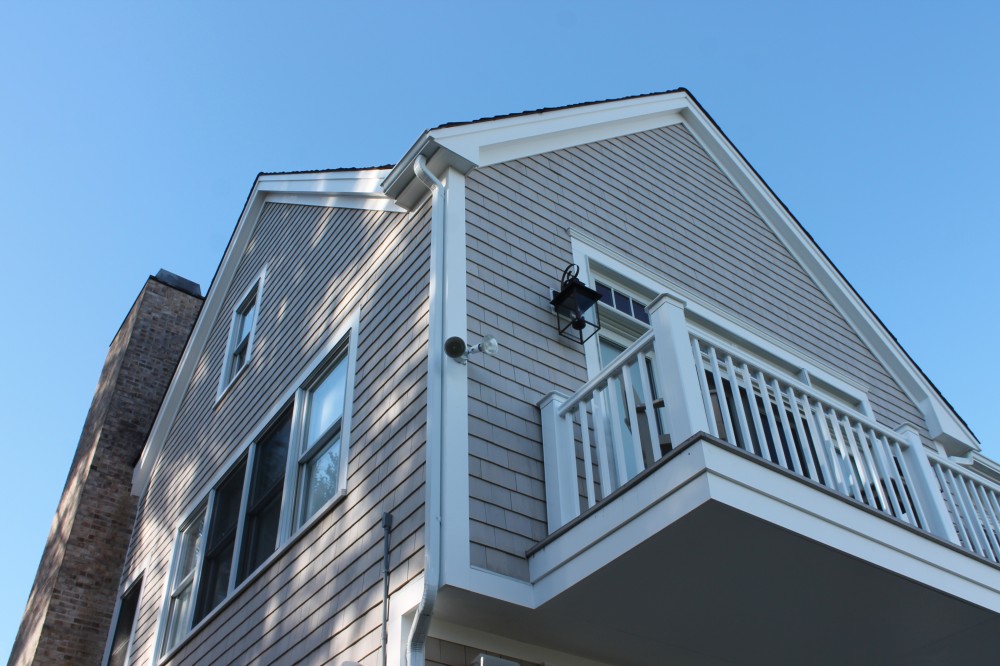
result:
<svg viewBox="0 0 1000 666"><path fill-rule="evenodd" d="M132 469L201 310L150 277L111 343L9 664L101 663L135 520Z"/></svg>

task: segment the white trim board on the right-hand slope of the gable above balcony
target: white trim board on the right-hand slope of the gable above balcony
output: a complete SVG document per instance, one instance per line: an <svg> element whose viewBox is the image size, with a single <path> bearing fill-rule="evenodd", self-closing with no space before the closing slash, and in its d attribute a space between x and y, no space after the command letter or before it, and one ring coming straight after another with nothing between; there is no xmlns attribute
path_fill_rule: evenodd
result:
<svg viewBox="0 0 1000 666"><path fill-rule="evenodd" d="M696 104L682 115L692 134L921 410L931 437L953 453L978 451L972 432L715 123Z"/></svg>

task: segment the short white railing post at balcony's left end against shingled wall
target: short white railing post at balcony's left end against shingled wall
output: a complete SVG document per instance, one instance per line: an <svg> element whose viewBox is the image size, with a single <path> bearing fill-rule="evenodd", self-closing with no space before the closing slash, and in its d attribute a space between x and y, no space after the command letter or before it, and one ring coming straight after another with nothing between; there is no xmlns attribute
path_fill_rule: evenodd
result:
<svg viewBox="0 0 1000 666"><path fill-rule="evenodd" d="M545 458L545 504L549 533L580 515L573 422L559 416L569 398L553 391L542 398L542 455Z"/></svg>

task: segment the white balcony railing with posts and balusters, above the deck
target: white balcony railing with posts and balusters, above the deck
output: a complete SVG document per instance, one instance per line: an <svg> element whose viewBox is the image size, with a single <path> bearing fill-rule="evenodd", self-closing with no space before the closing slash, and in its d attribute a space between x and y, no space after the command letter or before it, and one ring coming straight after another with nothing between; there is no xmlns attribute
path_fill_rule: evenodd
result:
<svg viewBox="0 0 1000 666"><path fill-rule="evenodd" d="M869 509L1000 563L1000 486L707 330L660 297L651 329L572 396L539 407L549 530L707 432Z"/></svg>

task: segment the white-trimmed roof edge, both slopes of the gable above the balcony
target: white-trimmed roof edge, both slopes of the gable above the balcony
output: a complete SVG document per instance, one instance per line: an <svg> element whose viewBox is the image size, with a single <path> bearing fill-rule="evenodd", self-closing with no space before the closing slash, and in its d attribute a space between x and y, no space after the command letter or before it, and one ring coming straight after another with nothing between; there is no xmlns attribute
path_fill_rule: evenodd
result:
<svg viewBox="0 0 1000 666"><path fill-rule="evenodd" d="M466 173L476 167L675 123L687 126L875 353L921 410L932 437L950 453L978 450L979 442L968 425L686 88L440 125L420 136L382 187L400 205L410 207L425 195L414 182L412 170L419 155L435 173L447 168Z"/></svg>

